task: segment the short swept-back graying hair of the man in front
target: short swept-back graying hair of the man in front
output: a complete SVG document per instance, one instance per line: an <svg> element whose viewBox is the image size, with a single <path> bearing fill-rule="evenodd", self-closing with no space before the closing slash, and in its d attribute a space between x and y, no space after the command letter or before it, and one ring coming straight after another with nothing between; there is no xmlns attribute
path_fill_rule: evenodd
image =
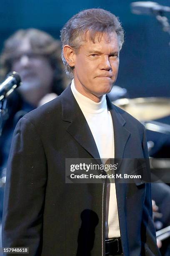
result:
<svg viewBox="0 0 170 256"><path fill-rule="evenodd" d="M95 42L96 36L98 36L98 40L100 41L103 33L107 33L108 40L110 40L110 33L115 31L117 33L119 49L122 48L124 31L118 17L107 10L95 8L77 13L67 21L60 31L62 43L61 57L68 77L73 77L72 70L74 67L70 67L67 64L63 54L63 48L68 44L77 52L81 42L86 39L87 31L89 31L89 37L93 43Z"/></svg>

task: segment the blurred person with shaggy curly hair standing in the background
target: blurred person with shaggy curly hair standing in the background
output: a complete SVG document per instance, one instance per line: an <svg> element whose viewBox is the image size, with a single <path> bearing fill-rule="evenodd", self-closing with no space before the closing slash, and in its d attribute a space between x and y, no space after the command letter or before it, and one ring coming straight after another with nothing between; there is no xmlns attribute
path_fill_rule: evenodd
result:
<svg viewBox="0 0 170 256"><path fill-rule="evenodd" d="M64 90L65 75L60 54L60 41L35 28L16 31L4 43L0 55L0 80L9 72L15 71L20 74L23 84L7 98L8 113L0 137L2 181L6 176L11 140L18 120ZM1 222L4 188L2 182L0 184Z"/></svg>

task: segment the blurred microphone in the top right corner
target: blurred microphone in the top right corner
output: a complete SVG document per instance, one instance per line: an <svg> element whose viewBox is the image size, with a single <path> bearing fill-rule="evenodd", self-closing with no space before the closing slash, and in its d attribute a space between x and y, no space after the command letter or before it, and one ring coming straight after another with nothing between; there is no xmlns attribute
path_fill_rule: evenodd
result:
<svg viewBox="0 0 170 256"><path fill-rule="evenodd" d="M159 5L155 2L133 2L131 5L131 11L135 14L158 14L158 13L170 13L170 7Z"/></svg>

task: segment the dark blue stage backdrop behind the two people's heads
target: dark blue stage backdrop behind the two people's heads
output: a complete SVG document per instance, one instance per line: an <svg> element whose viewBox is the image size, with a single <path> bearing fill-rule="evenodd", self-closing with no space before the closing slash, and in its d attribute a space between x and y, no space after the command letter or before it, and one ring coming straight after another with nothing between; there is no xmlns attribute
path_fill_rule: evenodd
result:
<svg viewBox="0 0 170 256"><path fill-rule="evenodd" d="M125 29L117 85L130 97L170 97L170 36L152 15L135 15L129 0L0 0L0 49L3 41L20 28L38 28L55 38L75 13L104 8L119 16ZM159 0L170 6L170 0ZM170 20L170 15L166 14Z"/></svg>

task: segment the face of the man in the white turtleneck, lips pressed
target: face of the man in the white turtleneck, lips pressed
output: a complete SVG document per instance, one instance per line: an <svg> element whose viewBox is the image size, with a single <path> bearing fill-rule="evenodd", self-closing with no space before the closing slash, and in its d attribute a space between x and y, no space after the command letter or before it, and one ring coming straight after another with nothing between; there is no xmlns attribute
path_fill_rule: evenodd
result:
<svg viewBox="0 0 170 256"><path fill-rule="evenodd" d="M76 89L96 102L110 92L117 79L119 68L119 44L116 32L103 34L95 43L88 39L74 55L74 81Z"/></svg>

